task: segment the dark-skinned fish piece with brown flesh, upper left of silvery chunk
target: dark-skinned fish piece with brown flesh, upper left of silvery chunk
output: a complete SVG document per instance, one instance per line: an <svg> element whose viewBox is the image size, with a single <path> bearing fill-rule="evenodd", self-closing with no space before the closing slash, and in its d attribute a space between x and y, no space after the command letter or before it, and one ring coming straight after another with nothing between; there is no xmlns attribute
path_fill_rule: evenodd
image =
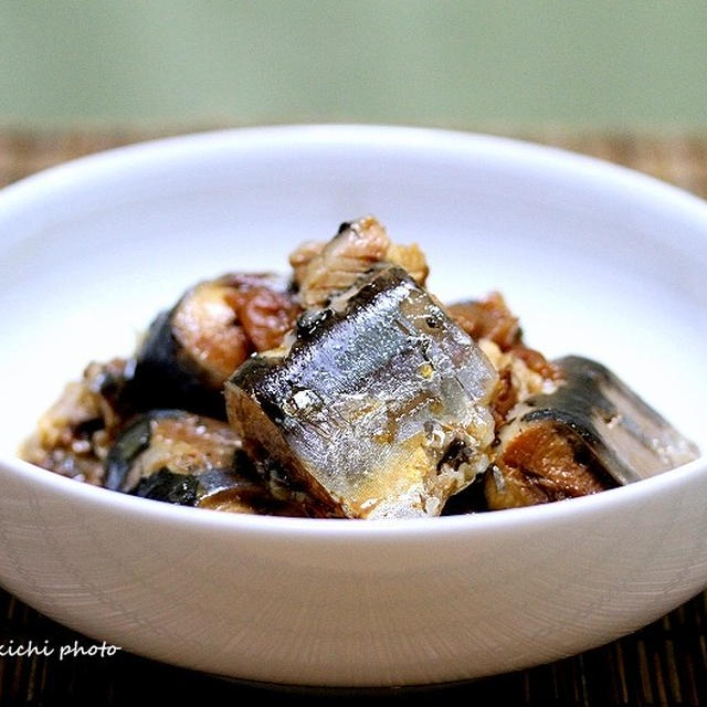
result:
<svg viewBox="0 0 707 707"><path fill-rule="evenodd" d="M287 283L275 275L233 273L198 283L150 324L136 354L130 403L225 420L225 379L252 351L277 346L297 312Z"/></svg>

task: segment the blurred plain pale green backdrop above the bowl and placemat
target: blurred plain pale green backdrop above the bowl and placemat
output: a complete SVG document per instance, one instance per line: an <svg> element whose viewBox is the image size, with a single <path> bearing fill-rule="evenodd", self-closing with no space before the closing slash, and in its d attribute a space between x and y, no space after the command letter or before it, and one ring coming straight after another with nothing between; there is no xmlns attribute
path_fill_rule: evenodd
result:
<svg viewBox="0 0 707 707"><path fill-rule="evenodd" d="M1 0L0 46L4 128L707 128L704 0Z"/></svg>

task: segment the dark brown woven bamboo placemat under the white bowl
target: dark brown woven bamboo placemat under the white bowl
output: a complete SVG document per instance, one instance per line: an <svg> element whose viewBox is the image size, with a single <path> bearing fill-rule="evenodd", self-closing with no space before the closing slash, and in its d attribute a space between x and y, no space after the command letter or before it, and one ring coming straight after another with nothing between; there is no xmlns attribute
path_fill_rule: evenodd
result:
<svg viewBox="0 0 707 707"><path fill-rule="evenodd" d="M219 126L222 127L222 126ZM197 129L205 129L203 127ZM184 131L184 130L179 130ZM192 129L196 131L196 129ZM486 130L493 131L493 130ZM172 130L170 134L175 134ZM707 198L707 136L578 134L547 129L509 135L632 167ZM0 131L0 186L68 159L160 137L131 130ZM73 633L0 590L0 645L78 646ZM245 704L274 694L282 703L447 699L467 705L707 705L707 592L659 621L609 645L508 675L430 689L331 693L225 682L118 652L112 657L0 656L0 707L6 705L158 703Z"/></svg>

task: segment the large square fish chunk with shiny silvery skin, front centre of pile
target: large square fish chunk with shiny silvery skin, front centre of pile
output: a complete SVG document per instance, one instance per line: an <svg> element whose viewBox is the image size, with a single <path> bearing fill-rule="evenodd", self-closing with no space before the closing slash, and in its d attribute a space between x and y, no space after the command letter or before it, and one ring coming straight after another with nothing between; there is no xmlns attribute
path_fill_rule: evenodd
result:
<svg viewBox="0 0 707 707"><path fill-rule="evenodd" d="M402 268L307 312L289 349L226 381L231 424L349 518L440 515L488 464L497 373Z"/></svg>

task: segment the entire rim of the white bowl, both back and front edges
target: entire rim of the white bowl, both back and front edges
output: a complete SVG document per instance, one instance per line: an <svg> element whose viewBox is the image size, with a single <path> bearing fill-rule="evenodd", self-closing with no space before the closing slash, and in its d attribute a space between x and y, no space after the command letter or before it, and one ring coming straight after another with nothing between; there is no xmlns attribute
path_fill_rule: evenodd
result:
<svg viewBox="0 0 707 707"><path fill-rule="evenodd" d="M378 124L284 124L207 129L140 140L77 157L45 168L0 189L0 223L8 214L21 211L38 200L63 190L81 188L96 178L114 177L116 170L128 173L155 160L179 159L202 155L203 150L221 150L224 144L236 150L262 150L275 147L306 149L310 147L386 148L422 152L440 149L462 151L467 156L493 156L506 163L537 169L559 170L573 178L603 188L631 190L643 199L659 199L666 208L698 223L707 234L707 201L656 177L633 168L582 155L566 148L547 146L527 139L437 127ZM31 430L29 431L31 432ZM460 531L484 532L498 526L527 527L562 523L578 515L595 514L626 505L640 504L654 494L667 493L696 477L707 475L704 450L693 462L654 477L603 490L598 494L560 502L477 514L434 518L376 519L352 521L348 518L302 518L230 514L205 508L191 508L138 498L64 477L23 460L0 453L0 482L11 474L29 486L55 493L66 500L91 504L96 509L136 514L145 520L179 523L213 529L218 532L285 535L291 540L313 537L347 541L374 540L401 536L412 541L439 538Z"/></svg>

